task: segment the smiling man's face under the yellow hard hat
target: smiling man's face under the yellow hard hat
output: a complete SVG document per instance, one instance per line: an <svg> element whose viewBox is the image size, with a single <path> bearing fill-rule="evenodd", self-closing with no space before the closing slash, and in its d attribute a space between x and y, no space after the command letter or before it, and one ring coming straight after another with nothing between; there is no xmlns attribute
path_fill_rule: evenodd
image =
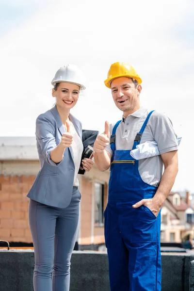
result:
<svg viewBox="0 0 194 291"><path fill-rule="evenodd" d="M141 85L133 83L132 79L120 77L111 83L111 90L114 103L123 111L126 117L140 108L139 95L142 90Z"/></svg>

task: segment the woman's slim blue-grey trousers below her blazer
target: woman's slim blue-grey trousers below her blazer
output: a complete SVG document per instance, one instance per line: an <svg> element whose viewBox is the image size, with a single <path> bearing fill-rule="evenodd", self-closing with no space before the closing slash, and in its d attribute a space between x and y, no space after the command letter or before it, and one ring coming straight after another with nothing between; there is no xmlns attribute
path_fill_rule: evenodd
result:
<svg viewBox="0 0 194 291"><path fill-rule="evenodd" d="M71 202L65 209L30 200L34 291L69 291L70 259L78 234L80 199L81 194L74 187Z"/></svg>

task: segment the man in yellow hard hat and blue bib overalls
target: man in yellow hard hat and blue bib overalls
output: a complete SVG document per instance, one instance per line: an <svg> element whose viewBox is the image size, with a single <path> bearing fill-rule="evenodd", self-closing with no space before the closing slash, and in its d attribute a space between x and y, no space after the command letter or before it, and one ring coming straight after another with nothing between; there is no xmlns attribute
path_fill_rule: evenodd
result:
<svg viewBox="0 0 194 291"><path fill-rule="evenodd" d="M178 173L172 123L140 107L141 81L131 65L111 65L105 85L123 116L111 137L106 122L94 144L98 169L111 167L104 212L111 291L161 291L160 210ZM138 162L130 150L146 141L156 141L161 155Z"/></svg>

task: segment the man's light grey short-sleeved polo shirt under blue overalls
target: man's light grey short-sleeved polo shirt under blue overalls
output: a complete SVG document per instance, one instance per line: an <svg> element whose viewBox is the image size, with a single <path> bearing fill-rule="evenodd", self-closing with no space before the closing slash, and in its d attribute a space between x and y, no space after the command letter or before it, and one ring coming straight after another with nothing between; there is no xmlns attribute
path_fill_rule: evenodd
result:
<svg viewBox="0 0 194 291"><path fill-rule="evenodd" d="M116 130L116 149L132 149L136 134L140 131L149 111L140 108L136 112L123 116L121 123ZM110 125L110 134L112 134L114 124ZM178 149L177 135L173 129L172 122L165 113L154 111L142 134L141 144L146 141L156 141L161 154ZM109 146L106 150L111 153ZM139 160L139 173L146 183L159 186L163 171L163 162L161 156Z"/></svg>

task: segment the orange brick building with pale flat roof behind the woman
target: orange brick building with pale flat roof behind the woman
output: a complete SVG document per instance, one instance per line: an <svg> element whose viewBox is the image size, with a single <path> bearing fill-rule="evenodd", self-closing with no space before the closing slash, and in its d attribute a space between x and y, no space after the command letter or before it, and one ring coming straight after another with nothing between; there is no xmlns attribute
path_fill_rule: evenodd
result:
<svg viewBox="0 0 194 291"><path fill-rule="evenodd" d="M34 137L0 137L0 240L32 242L26 197L39 172ZM81 192L78 249L105 249L103 212L107 204L109 171L97 167L79 175Z"/></svg>

